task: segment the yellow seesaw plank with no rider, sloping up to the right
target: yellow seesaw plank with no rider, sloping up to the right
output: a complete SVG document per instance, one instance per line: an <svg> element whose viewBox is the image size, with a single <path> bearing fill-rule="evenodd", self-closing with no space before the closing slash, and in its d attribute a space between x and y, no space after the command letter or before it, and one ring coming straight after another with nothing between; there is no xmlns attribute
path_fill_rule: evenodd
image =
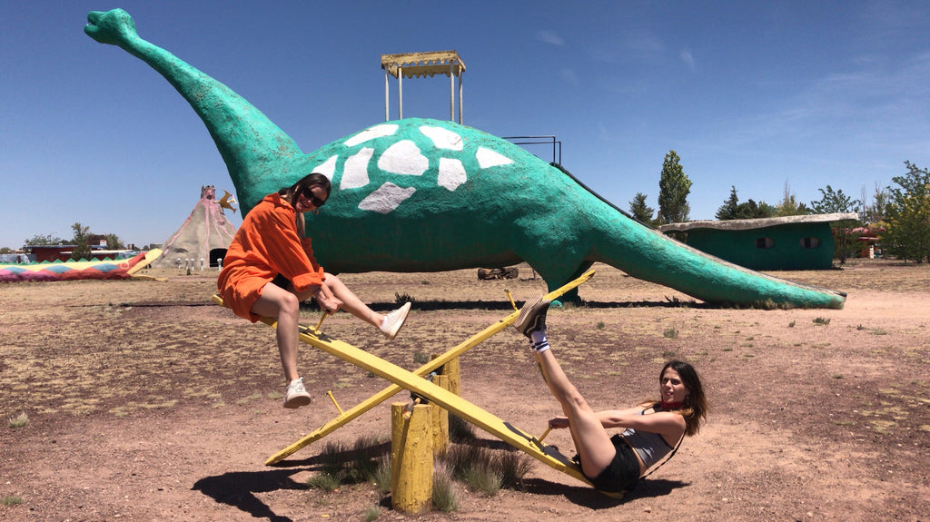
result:
<svg viewBox="0 0 930 522"><path fill-rule="evenodd" d="M585 281L590 280L591 277L593 277L593 275L594 275L594 270L589 270L585 272L584 274L582 274L580 277L578 277L578 279L574 281L570 281L566 283L564 286L562 286L561 288L558 288L556 290L553 290L551 293L546 294L546 298L550 300L557 299L558 297L562 296L569 290L572 290L573 288L577 288L578 285L582 284ZM220 299L219 296L214 296L214 301L216 301L219 305L222 305L222 299ZM519 311L516 311L516 310L513 311L510 315L508 315L504 319L498 320L494 324L485 328L485 330L482 330L481 332L472 335L472 337L470 337L468 340L446 351L443 355L437 357L436 359L432 359L430 362L420 366L417 370L414 370L413 373L422 377L423 375L428 375L431 372L435 372L441 366L445 365L445 363L449 362L450 360L458 358L459 356L461 356L468 350L472 349L474 346L478 346L481 343L485 342L485 340L489 339L495 333L498 333L504 328L507 328L508 326L510 326L513 323L513 321L517 319L517 315L519 315ZM266 322L266 324L270 324L273 326L274 320L264 321L264 322ZM378 393L371 396L370 398L367 398L364 401L358 403L352 409L343 411L338 417L332 419L326 424L323 424L320 428L318 428L316 431L312 432L311 434L301 437L297 442L291 444L290 446L287 446L284 450L280 450L277 453L273 454L271 457L268 458L267 461L265 461L265 465L272 465L274 463L279 463L283 461L288 456L294 454L298 450L312 444L313 442L323 437L326 437L327 435L336 431L343 425L352 422L352 420L356 419L357 417L365 413L365 411L369 411L375 406L378 406L381 402L384 402L385 400L387 400L388 398L392 398L395 394L400 392L402 389L403 387L401 385L390 385L384 388L383 390L379 391Z"/></svg>

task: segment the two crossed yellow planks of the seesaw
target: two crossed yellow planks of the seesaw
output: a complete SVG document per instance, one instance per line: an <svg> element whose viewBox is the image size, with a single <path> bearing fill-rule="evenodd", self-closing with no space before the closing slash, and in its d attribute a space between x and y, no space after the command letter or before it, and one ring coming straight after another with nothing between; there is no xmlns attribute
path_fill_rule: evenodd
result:
<svg viewBox="0 0 930 522"><path fill-rule="evenodd" d="M546 297L548 299L555 299L560 295L565 294L565 292L568 292L569 290L577 287L579 284L590 280L593 275L594 271L589 270L577 280L565 284L565 286L551 292L550 294L547 294ZM217 304L222 305L222 299L218 295L214 296L213 300ZM307 444L310 444L314 440L325 437L328 433L331 433L332 431L339 428L339 426L352 421L352 419L358 417L365 411L370 410L387 398L392 397L402 388L405 388L423 398L431 400L435 404L438 404L441 408L445 409L445 411L449 411L455 415L458 415L458 417L461 417L462 419L480 427L481 429L484 429L487 433L498 437L504 442L507 442L512 447L518 450L523 450L526 454L537 459L539 462L545 463L553 469L561 471L569 476L574 476L582 482L591 484L591 482L581 473L581 470L577 464L573 463L554 447L546 446L543 444L540 439L541 437L537 438L526 434L523 430L514 427L510 423L504 422L493 413L475 406L468 400L460 398L458 395L447 391L440 386L433 385L430 381L422 377L422 375L429 374L430 372L444 365L446 362L457 358L459 355L466 352L473 346L477 346L490 336L500 332L512 324L512 322L516 320L518 314L519 312L514 310L503 320L498 320L496 323L489 326L481 333L473 335L464 343L445 352L438 358L432 359L429 363L417 369L416 372L408 372L390 361L380 359L377 356L365 352L365 350L339 341L338 339L333 339L324 333L320 333L320 324L317 324L315 329L309 327L300 327L299 338L302 342L320 348L326 353L334 355L339 359L346 360L347 362L350 362L359 368L379 375L379 377L383 377L384 379L391 381L393 385L388 386L378 394L375 394L371 398L368 398L365 401L359 403L359 405L352 408L352 410L341 412L339 417L324 424L324 426L317 431L301 438L298 442L288 446L285 450L281 450L273 455L268 459L266 464L280 462L287 455L294 453ZM277 324L277 321L273 320L272 318L261 318L261 321L272 327L276 326ZM341 411L341 409L339 410ZM543 437L545 437L545 435Z"/></svg>

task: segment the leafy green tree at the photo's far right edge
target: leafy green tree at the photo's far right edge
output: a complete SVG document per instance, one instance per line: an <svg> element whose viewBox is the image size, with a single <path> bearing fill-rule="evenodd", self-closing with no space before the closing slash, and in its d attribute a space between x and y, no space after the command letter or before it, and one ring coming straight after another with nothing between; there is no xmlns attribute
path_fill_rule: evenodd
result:
<svg viewBox="0 0 930 522"><path fill-rule="evenodd" d="M892 177L897 187L888 188L888 228L882 241L891 254L923 263L930 261L930 170L904 165L908 173Z"/></svg>

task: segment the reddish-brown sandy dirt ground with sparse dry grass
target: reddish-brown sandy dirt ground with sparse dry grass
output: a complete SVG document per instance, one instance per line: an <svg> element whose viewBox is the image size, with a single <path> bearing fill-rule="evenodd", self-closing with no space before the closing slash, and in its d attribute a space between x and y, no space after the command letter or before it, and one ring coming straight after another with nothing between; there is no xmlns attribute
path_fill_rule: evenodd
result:
<svg viewBox="0 0 930 522"><path fill-rule="evenodd" d="M928 520L930 267L854 260L777 277L848 293L843 310L706 307L596 265L584 306L553 309L553 349L596 409L658 396L666 359L691 361L711 401L697 437L622 501L535 463L522 488L457 484L458 510L400 515L370 484L311 489L326 441L390 437L398 394L277 466L265 459L387 385L303 349L311 406L281 407L273 331L213 305L215 272L166 281L0 285L0 519ZM346 274L372 307L416 299L393 342L348 314L323 330L414 369L545 290L475 270ZM303 322L320 315L307 309ZM461 359L462 395L541 434L557 404L523 337ZM21 414L28 424L13 427ZM479 438L494 442L484 432ZM546 442L572 454L566 430ZM535 461L534 461L535 462Z"/></svg>

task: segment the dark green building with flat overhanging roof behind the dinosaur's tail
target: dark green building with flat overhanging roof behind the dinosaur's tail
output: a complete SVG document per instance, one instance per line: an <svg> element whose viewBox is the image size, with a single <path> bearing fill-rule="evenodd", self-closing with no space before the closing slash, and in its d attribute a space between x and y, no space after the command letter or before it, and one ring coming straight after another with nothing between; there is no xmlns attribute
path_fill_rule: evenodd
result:
<svg viewBox="0 0 930 522"><path fill-rule="evenodd" d="M697 250L752 270L823 270L833 266L830 223L854 213L690 221L658 227Z"/></svg>

